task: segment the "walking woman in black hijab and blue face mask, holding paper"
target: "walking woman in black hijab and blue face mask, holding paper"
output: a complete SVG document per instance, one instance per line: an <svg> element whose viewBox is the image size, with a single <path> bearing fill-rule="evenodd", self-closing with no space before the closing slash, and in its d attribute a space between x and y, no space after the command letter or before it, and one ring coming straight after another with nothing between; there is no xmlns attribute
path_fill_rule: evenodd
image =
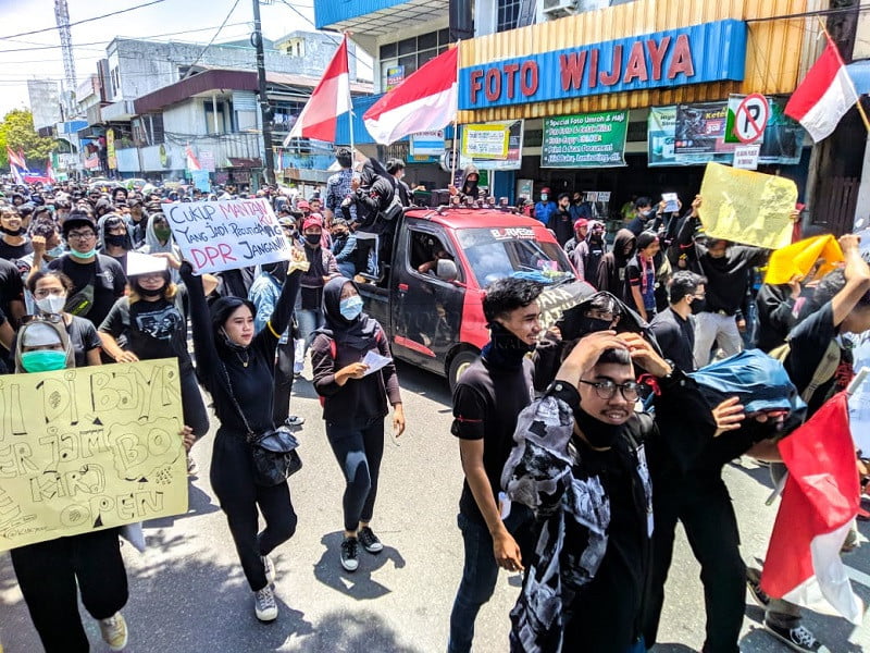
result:
<svg viewBox="0 0 870 653"><path fill-rule="evenodd" d="M344 278L323 287L326 324L311 343L314 389L323 403L326 438L347 481L341 566L355 571L358 547L380 553L384 546L369 528L384 454L384 418L393 405L393 430L405 431L399 379L386 334L362 312L357 284ZM388 359L385 365L383 359Z"/></svg>

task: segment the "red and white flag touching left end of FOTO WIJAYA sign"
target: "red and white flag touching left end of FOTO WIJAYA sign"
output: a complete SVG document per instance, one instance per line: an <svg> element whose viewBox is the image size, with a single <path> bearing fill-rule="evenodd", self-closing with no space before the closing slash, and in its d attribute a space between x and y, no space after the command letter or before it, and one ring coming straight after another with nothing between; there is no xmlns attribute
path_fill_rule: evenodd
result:
<svg viewBox="0 0 870 653"><path fill-rule="evenodd" d="M443 130L456 119L459 46L427 61L385 94L362 116L381 145L419 132Z"/></svg>

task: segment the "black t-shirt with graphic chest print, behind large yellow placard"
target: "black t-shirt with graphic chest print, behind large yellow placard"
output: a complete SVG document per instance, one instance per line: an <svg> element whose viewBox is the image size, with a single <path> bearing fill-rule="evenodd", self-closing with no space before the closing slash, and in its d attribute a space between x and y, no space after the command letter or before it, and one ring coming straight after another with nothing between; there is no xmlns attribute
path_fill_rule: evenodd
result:
<svg viewBox="0 0 870 653"><path fill-rule="evenodd" d="M179 368L192 366L187 352L187 319L182 286L173 301L140 299L130 305L129 297L115 301L100 324L100 331L115 340L123 336L124 349L141 360L178 358Z"/></svg>

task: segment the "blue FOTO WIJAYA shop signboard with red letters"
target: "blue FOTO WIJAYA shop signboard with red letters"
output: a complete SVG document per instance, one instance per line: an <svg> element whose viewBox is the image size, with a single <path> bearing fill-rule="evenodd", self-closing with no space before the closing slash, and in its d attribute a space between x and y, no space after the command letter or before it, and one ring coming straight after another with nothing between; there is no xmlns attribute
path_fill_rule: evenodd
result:
<svg viewBox="0 0 870 653"><path fill-rule="evenodd" d="M729 19L463 67L459 109L742 82L746 35Z"/></svg>

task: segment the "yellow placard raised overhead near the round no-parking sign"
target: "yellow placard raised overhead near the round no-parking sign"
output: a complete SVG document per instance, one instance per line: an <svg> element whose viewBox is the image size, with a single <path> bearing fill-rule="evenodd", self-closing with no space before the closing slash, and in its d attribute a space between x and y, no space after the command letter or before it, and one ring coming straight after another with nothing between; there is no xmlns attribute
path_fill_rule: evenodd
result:
<svg viewBox="0 0 870 653"><path fill-rule="evenodd" d="M792 242L797 186L792 180L707 163L698 210L709 236L779 249Z"/></svg>

